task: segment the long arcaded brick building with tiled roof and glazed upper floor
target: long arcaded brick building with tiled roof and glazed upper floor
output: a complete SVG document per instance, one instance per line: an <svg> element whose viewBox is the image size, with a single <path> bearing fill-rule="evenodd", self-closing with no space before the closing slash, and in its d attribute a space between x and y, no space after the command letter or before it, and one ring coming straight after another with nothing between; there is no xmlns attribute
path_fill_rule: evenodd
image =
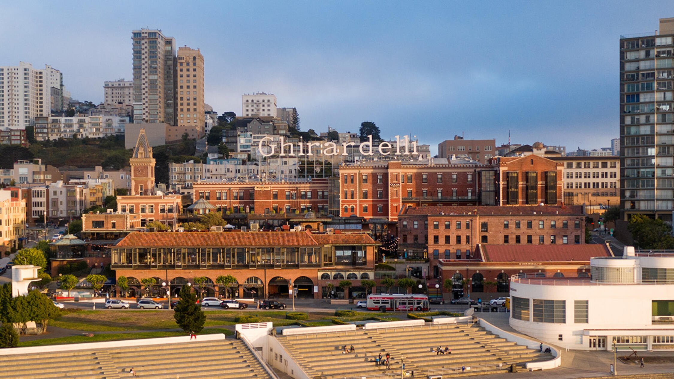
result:
<svg viewBox="0 0 674 379"><path fill-rule="evenodd" d="M113 246L112 268L135 293L148 277L170 283L173 295L206 277L204 295L225 296L215 281L232 275L237 283L228 289L237 298L287 297L290 282L298 297L350 298L364 295L361 279L373 279L376 247L367 234L134 232ZM352 282L347 294L337 287L342 279Z"/></svg>

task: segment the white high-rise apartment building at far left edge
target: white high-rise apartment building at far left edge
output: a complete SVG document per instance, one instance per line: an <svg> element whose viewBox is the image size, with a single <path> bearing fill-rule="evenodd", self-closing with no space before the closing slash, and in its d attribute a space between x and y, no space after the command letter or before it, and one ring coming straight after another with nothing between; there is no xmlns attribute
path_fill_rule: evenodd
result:
<svg viewBox="0 0 674 379"><path fill-rule="evenodd" d="M26 129L37 116L63 109L61 71L30 63L0 67L0 128Z"/></svg>

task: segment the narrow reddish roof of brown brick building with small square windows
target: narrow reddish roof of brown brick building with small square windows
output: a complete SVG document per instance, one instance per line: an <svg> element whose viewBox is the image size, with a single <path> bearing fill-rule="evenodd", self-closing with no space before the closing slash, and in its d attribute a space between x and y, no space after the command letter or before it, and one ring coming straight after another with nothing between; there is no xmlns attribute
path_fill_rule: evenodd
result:
<svg viewBox="0 0 674 379"><path fill-rule="evenodd" d="M481 205L468 207L465 205L456 207L407 207L404 215L467 215L477 209L479 215L582 215L582 206L568 205L560 207L556 205L504 205L501 207Z"/></svg>

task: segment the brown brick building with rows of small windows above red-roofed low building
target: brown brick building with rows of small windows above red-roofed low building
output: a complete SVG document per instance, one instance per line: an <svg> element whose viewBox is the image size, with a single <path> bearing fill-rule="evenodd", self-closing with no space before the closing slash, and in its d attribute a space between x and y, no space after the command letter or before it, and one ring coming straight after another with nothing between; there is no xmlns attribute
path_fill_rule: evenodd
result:
<svg viewBox="0 0 674 379"><path fill-rule="evenodd" d="M473 259L477 244L584 244L582 207L409 207L398 217L398 250L428 258Z"/></svg>

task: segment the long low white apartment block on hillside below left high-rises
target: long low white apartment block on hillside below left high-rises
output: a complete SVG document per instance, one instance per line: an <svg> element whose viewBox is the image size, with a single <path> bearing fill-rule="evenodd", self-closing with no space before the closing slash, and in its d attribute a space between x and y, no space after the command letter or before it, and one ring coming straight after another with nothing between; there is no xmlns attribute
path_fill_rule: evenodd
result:
<svg viewBox="0 0 674 379"><path fill-rule="evenodd" d="M38 141L59 138L101 138L123 134L128 117L121 116L84 116L35 118L35 139Z"/></svg>

